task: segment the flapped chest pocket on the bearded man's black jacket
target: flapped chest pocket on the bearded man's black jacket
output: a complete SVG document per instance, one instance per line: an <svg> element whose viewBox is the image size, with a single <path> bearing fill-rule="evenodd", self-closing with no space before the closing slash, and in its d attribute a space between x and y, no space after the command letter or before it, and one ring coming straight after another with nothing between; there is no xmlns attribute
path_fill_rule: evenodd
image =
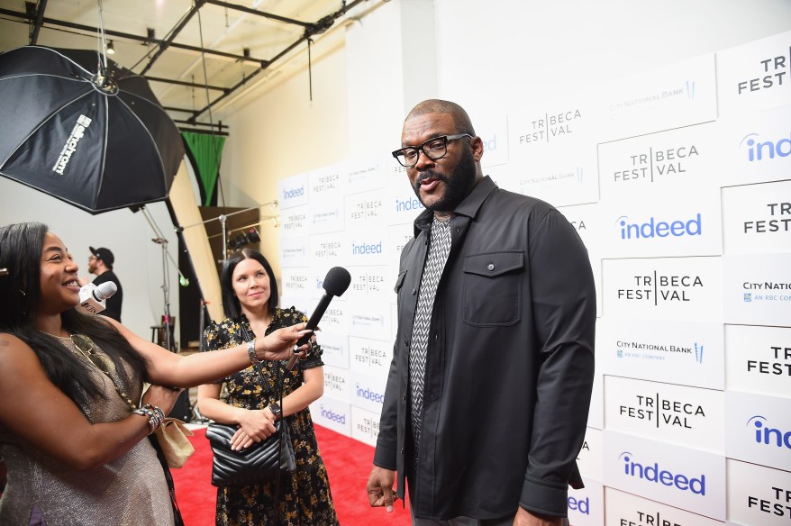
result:
<svg viewBox="0 0 791 526"><path fill-rule="evenodd" d="M462 320L466 324L505 326L522 319L523 252L468 256L463 270Z"/></svg>

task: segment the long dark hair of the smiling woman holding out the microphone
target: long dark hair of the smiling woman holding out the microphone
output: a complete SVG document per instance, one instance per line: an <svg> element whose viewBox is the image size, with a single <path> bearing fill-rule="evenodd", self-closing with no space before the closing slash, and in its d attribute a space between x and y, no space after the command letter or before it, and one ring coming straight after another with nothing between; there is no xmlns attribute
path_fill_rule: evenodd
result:
<svg viewBox="0 0 791 526"><path fill-rule="evenodd" d="M94 366L75 359L57 338L34 325L40 309L41 254L48 231L41 222L0 227L0 268L8 270L7 276L0 277L0 332L12 334L30 346L52 383L82 409L104 396L90 376ZM129 341L108 322L74 307L60 313L60 317L69 334L85 334L113 359L119 379L126 391L132 392L132 379L123 364L132 367L135 376L142 377L146 361Z"/></svg>

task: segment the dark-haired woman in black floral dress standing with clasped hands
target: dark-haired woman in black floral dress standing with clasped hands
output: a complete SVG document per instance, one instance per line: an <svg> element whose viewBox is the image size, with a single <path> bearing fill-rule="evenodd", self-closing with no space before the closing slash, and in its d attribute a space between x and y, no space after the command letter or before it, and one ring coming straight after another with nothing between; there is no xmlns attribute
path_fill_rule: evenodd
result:
<svg viewBox="0 0 791 526"><path fill-rule="evenodd" d="M295 322L305 314L277 307L277 282L268 261L259 252L243 249L223 264L221 277L223 310L228 316L204 331L205 349L220 351L241 341L264 338L269 332ZM217 488L217 525L333 526L338 524L330 493L330 482L318 445L308 404L323 394L322 350L314 343L312 352L286 372L285 361L261 362L224 378L220 383L201 385L201 413L221 423L241 428L234 441L249 447L275 431L274 422L285 418L294 445L296 470L276 481L245 487ZM283 406L277 387L283 378ZM223 384L227 398L221 399ZM258 439L258 440L253 440ZM277 503L277 513L275 505Z"/></svg>

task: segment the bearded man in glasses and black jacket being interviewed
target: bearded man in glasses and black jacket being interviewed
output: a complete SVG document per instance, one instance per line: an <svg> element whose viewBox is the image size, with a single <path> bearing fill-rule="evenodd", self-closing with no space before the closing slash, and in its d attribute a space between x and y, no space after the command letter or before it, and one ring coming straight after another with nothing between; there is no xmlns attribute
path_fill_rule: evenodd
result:
<svg viewBox="0 0 791 526"><path fill-rule="evenodd" d="M418 526L568 523L594 376L586 248L550 204L483 176L458 104L418 104L401 139L426 210L401 253L368 500L392 510L397 472Z"/></svg>

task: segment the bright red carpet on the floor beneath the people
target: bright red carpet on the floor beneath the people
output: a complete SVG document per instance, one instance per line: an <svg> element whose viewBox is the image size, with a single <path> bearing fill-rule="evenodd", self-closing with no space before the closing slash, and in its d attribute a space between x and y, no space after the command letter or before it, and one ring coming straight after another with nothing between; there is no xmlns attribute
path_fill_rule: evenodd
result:
<svg viewBox="0 0 791 526"><path fill-rule="evenodd" d="M319 452L330 476L332 500L342 526L412 524L409 510L402 506L401 501L396 501L392 513L368 505L365 485L374 458L373 448L318 425L315 430ZM178 507L186 526L214 526L217 493L211 483L212 449L205 438L205 429L195 430L195 436L190 440L195 446L195 455L189 458L185 467L172 470Z"/></svg>

